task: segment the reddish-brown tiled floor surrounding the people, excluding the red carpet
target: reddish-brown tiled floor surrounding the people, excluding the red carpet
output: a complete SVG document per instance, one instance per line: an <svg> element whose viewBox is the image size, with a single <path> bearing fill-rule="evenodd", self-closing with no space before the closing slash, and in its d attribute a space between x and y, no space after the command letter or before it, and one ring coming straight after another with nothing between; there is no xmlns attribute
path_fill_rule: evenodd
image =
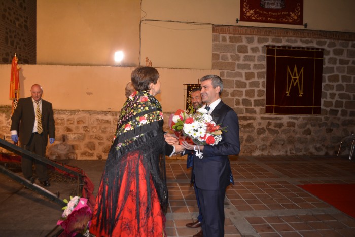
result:
<svg viewBox="0 0 355 237"><path fill-rule="evenodd" d="M355 236L355 219L300 188L308 183L355 183L355 161L342 156L231 157L235 184L225 199L225 236ZM63 161L82 168L95 184L105 161ZM186 160L166 164L168 236L192 236L197 217ZM38 182L38 181L37 181ZM53 180L48 188L68 198L76 184ZM354 200L355 205L355 200ZM0 174L0 236L51 236L61 207Z"/></svg>

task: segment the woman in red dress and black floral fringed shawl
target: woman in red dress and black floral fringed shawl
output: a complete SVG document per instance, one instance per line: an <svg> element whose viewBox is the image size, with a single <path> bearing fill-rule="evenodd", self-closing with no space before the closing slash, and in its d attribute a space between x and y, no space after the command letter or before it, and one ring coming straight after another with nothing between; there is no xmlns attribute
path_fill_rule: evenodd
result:
<svg viewBox="0 0 355 237"><path fill-rule="evenodd" d="M121 109L96 197L90 224L96 236L166 236L165 154L183 148L164 139L162 108L154 97L160 93L158 71L137 67L131 81L137 91Z"/></svg>

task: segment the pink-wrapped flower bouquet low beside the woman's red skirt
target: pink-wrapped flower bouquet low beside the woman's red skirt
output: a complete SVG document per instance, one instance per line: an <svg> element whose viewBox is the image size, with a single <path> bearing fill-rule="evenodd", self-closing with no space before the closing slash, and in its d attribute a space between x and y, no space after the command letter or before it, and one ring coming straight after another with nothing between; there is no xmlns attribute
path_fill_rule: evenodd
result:
<svg viewBox="0 0 355 237"><path fill-rule="evenodd" d="M63 236L76 236L78 234L84 234L88 230L88 225L91 220L92 212L88 206L88 200L85 198L74 198L70 196L70 201L64 199L64 203L68 206L63 207L64 210L57 225L60 225L64 229Z"/></svg>

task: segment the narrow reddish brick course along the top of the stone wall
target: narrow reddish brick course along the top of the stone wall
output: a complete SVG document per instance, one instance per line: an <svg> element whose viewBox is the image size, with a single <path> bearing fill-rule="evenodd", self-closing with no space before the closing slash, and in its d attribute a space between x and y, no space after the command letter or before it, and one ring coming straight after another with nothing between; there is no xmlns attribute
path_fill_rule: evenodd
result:
<svg viewBox="0 0 355 237"><path fill-rule="evenodd" d="M282 29L282 28L214 25L212 27L212 33L233 34L233 35L260 35L260 36L275 36L275 37L337 39L341 41L355 41L355 33L321 31L321 30L304 30L304 29Z"/></svg>

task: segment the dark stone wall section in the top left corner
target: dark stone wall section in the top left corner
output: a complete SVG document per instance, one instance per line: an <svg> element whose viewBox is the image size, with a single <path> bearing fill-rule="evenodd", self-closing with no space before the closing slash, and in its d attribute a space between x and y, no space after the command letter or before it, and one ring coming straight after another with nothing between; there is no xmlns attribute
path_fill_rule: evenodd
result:
<svg viewBox="0 0 355 237"><path fill-rule="evenodd" d="M37 1L0 1L0 64L36 63Z"/></svg>

